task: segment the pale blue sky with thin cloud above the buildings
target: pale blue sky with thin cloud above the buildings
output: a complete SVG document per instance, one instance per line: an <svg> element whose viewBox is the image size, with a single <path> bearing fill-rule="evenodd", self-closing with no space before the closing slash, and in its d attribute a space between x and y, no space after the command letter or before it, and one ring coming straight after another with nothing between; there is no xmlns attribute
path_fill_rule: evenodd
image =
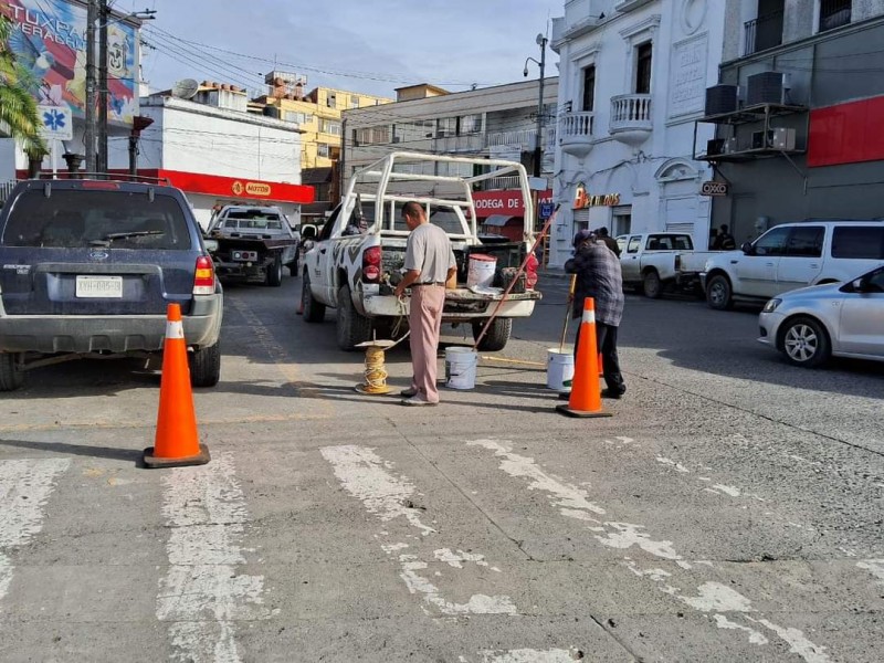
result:
<svg viewBox="0 0 884 663"><path fill-rule="evenodd" d="M317 86L394 97L403 85L451 92L525 80L540 59L538 33L564 0L113 0L145 21L143 72L150 90L180 78L232 83L265 94L281 70ZM558 56L547 48L546 75ZM274 65L275 62L275 65ZM539 67L528 63L528 78Z"/></svg>

